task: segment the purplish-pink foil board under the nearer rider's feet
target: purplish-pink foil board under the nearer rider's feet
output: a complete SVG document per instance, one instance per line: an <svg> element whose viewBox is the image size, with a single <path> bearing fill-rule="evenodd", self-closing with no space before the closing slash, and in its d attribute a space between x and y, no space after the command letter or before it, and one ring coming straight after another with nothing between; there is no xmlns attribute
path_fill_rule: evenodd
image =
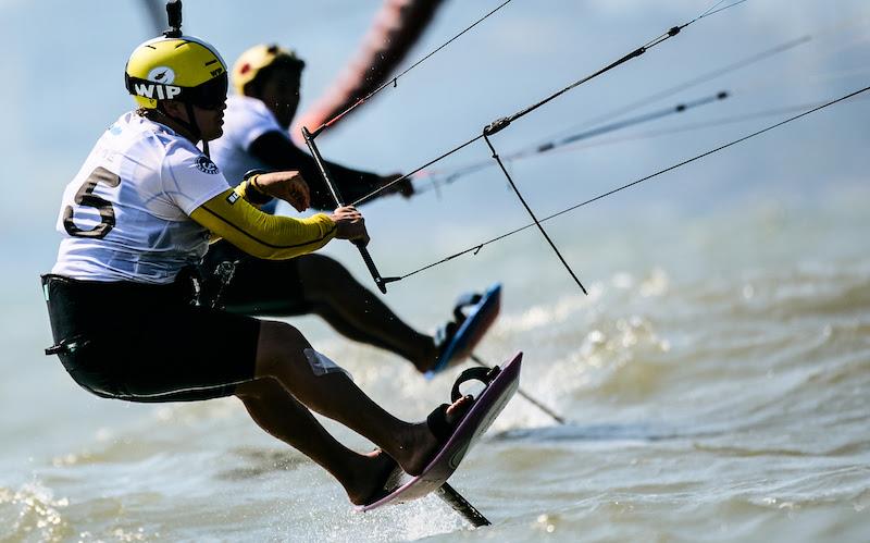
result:
<svg viewBox="0 0 870 543"><path fill-rule="evenodd" d="M522 358L523 354L517 353L501 368L497 366L490 370L496 371L497 374L477 396L462 420L457 423L453 433L442 445L440 451L422 473L410 478L376 502L357 506L356 510L368 511L382 505L397 505L410 502L438 490L447 482L447 479L453 474L465 454L492 425L493 421L496 420L496 417L505 409L505 406L517 392L520 386Z"/></svg>

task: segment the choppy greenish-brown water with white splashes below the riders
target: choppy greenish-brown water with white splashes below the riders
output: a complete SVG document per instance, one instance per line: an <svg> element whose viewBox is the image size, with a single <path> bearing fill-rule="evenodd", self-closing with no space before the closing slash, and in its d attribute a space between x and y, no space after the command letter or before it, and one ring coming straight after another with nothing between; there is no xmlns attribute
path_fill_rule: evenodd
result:
<svg viewBox="0 0 870 543"><path fill-rule="evenodd" d="M436 497L351 513L235 399L88 396L39 354L48 328L29 277L33 292L9 293L3 316L0 540L867 541L870 198L853 196L678 217L598 242L562 235L572 261L597 262L587 297L545 251L518 256L539 247L534 236L524 251L457 264L476 270L463 284L505 283L481 358L524 350L523 391L570 420L512 400L451 479L493 520L482 530ZM680 236L664 243L662 231ZM457 283L418 281L389 299L435 322ZM424 382L298 323L394 412L422 417L447 396L449 378Z"/></svg>

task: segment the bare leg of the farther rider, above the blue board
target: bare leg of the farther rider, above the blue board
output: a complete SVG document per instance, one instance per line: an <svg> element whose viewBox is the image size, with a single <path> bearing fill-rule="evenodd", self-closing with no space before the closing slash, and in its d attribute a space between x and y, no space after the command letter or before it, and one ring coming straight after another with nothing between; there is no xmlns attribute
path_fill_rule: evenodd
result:
<svg viewBox="0 0 870 543"><path fill-rule="evenodd" d="M340 263L328 257L307 255L299 259L298 270L306 300L343 335L391 350L420 371L426 371L435 362L437 350L432 336L406 324Z"/></svg>

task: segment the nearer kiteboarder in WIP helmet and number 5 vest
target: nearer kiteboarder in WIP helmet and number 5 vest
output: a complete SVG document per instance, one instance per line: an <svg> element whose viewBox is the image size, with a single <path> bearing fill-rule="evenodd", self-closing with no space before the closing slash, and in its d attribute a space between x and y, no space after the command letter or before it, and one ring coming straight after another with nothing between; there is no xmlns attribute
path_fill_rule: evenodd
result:
<svg viewBox="0 0 870 543"><path fill-rule="evenodd" d="M397 465L420 473L439 447L430 428L449 428L470 398L436 409L431 424L402 421L290 324L190 303L197 282L189 270L210 235L260 258L287 259L333 238L366 243L360 212L343 207L294 219L251 205L277 197L307 208L311 196L297 172L227 187L196 146L221 135L228 86L226 65L209 44L167 32L134 50L125 79L138 109L105 131L63 195L63 239L42 276L54 337L47 354L105 398L235 395L263 430L332 473L355 504L383 493ZM309 409L380 449L350 451Z"/></svg>

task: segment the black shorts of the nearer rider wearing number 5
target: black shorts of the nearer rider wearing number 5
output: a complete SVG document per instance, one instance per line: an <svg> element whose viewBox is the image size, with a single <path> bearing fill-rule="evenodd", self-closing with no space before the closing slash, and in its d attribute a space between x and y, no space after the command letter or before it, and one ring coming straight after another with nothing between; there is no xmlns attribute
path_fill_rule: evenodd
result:
<svg viewBox="0 0 870 543"><path fill-rule="evenodd" d="M129 402L229 396L254 377L260 321L190 304L170 285L44 275L58 354L87 391Z"/></svg>

